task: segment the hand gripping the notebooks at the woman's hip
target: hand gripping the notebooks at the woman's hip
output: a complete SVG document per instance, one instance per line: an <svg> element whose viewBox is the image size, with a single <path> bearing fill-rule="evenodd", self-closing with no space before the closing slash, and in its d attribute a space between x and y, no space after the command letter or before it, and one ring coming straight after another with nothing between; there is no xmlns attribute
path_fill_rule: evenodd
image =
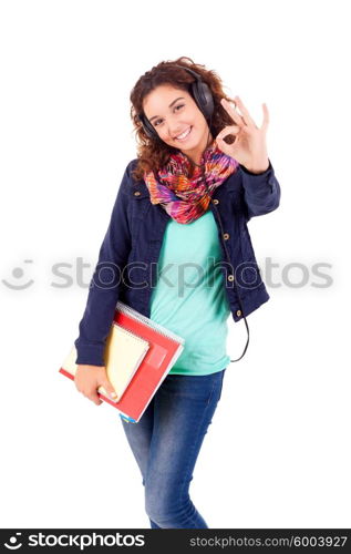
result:
<svg viewBox="0 0 351 554"><path fill-rule="evenodd" d="M79 392L92 400L96 406L102 404L102 400L97 394L99 387L104 387L105 391L112 400L116 399L116 393L111 382L107 379L105 366L85 366L76 367L74 383Z"/></svg>

